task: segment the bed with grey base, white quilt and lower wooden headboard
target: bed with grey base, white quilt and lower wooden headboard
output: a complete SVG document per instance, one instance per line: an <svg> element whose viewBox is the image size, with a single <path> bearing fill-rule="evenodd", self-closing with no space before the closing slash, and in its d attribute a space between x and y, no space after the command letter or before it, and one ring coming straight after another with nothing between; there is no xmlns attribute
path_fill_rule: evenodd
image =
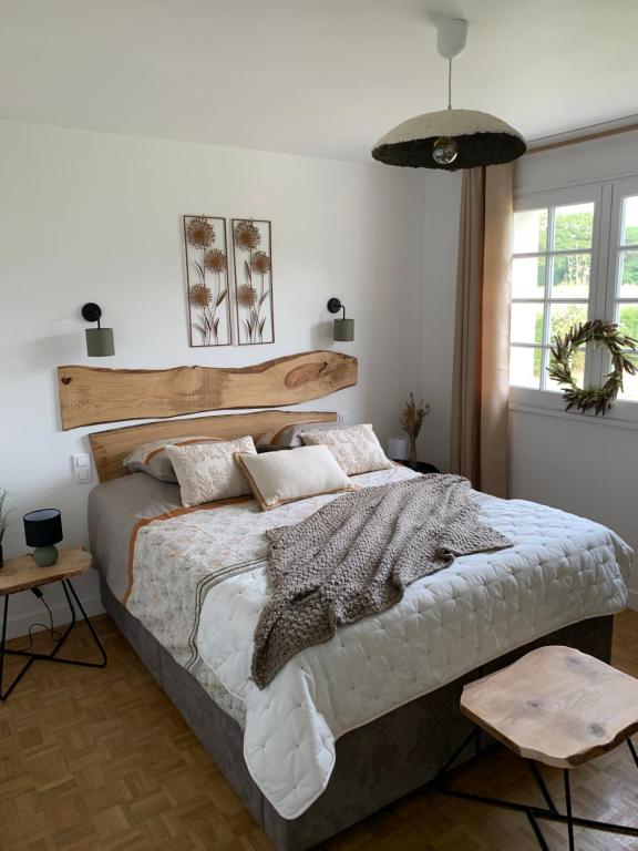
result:
<svg viewBox="0 0 638 851"><path fill-rule="evenodd" d="M264 513L250 499L184 510L177 485L122 475L121 458L185 424L227 438L312 417L227 414L91 435L103 483L90 498L90 537L104 606L282 851L311 848L431 780L467 735L459 699L476 676L542 644L608 660L631 563L604 526L474 494L512 548L414 583L400 604L303 650L260 691L249 663L268 595L264 532L337 498ZM356 483L411 475L395 466Z"/></svg>

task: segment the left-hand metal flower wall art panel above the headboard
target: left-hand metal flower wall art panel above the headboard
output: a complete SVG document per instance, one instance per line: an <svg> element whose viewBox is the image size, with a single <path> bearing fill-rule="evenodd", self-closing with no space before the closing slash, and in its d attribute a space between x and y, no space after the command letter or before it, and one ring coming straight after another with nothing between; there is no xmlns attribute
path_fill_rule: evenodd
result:
<svg viewBox="0 0 638 851"><path fill-rule="evenodd" d="M226 219L184 216L191 346L230 346Z"/></svg>

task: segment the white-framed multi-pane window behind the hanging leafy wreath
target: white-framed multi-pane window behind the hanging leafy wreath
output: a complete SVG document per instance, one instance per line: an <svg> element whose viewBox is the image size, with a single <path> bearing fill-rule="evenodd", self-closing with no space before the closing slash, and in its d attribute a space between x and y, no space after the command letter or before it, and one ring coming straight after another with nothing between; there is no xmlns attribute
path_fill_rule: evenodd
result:
<svg viewBox="0 0 638 851"><path fill-rule="evenodd" d="M516 199L511 318L512 396L527 404L559 401L547 367L554 338L573 325L608 318L638 338L638 180ZM638 367L638 353L628 357ZM599 347L575 359L580 385L599 385L608 371ZM638 401L638 376L625 376L619 399Z"/></svg>

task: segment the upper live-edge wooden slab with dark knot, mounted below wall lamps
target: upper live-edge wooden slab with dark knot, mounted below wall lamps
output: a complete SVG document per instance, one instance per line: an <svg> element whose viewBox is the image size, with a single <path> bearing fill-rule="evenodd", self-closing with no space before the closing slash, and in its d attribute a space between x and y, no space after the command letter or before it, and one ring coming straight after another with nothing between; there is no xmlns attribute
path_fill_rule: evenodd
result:
<svg viewBox="0 0 638 851"><path fill-rule="evenodd" d="M179 417L236 408L275 408L357 383L357 358L306 351L251 367L102 369L58 367L62 428Z"/></svg>

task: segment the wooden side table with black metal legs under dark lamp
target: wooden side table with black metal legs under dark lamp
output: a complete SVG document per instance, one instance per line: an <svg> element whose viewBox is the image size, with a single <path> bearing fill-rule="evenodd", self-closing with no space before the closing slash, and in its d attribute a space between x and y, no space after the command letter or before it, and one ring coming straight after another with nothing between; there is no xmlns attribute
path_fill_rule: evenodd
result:
<svg viewBox="0 0 638 851"><path fill-rule="evenodd" d="M18 683L22 679L24 674L29 670L31 665L38 659L40 662L55 662L62 665L81 665L86 668L103 668L106 665L106 654L97 633L93 628L93 624L88 618L86 613L75 593L75 588L71 584L71 580L75 576L80 576L82 573L86 573L91 566L91 553L81 548L75 550L61 550L60 555L55 564L51 567L39 567L31 555L21 555L19 558L8 558L4 562L4 566L0 568L0 597L4 597L3 605L3 618L2 629L0 637L0 700L6 700L11 691L16 688ZM32 653L31 650L13 650L7 648L7 623L9 619L9 597L12 594L17 594L19 591L31 589L35 596L42 596L40 593L41 585L50 585L52 582L62 583L62 589L69 604L71 612L71 623L66 626L64 633L60 639L55 643L55 646L50 653ZM58 656L58 652L69 637L69 634L75 626L75 608L73 603L80 609L84 622L93 636L93 639L100 649L102 656L101 662L80 662L76 659L61 659ZM27 664L13 678L8 688L2 690L3 673L4 673L4 656L24 656L27 657Z"/></svg>

